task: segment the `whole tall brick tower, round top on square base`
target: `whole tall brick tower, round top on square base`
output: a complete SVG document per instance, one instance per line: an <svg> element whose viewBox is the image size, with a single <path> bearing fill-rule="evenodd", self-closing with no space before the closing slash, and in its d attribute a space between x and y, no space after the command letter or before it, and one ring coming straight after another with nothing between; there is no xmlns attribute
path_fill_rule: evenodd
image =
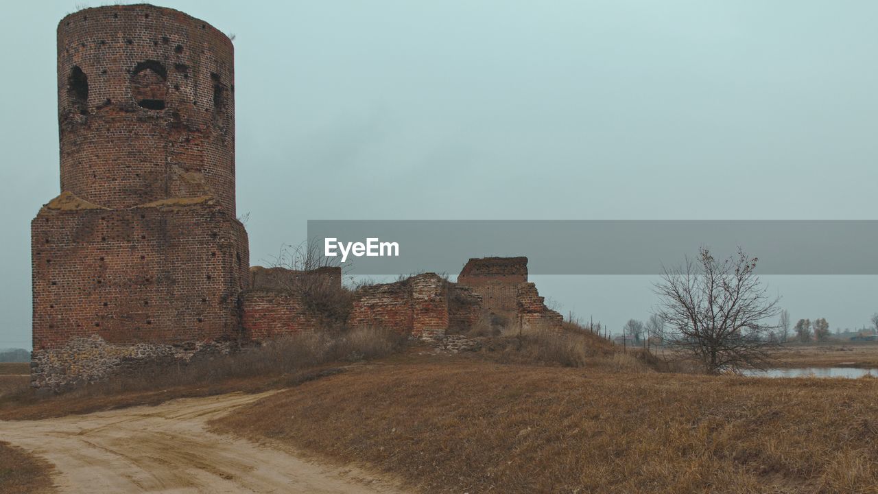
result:
<svg viewBox="0 0 878 494"><path fill-rule="evenodd" d="M61 19L61 195L31 227L34 386L237 338L233 57L171 9Z"/></svg>

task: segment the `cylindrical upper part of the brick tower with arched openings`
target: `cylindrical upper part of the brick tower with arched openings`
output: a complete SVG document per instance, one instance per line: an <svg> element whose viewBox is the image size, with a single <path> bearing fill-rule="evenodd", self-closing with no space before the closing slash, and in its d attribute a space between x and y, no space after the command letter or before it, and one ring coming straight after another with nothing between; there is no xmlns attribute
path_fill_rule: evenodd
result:
<svg viewBox="0 0 878 494"><path fill-rule="evenodd" d="M58 24L61 190L98 206L212 195L234 215L234 48L152 5Z"/></svg>

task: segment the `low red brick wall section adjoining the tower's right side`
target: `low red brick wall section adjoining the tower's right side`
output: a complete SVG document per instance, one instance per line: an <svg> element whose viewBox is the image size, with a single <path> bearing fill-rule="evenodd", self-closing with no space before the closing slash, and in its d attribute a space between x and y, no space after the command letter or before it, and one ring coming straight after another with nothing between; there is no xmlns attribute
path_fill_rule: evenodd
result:
<svg viewBox="0 0 878 494"><path fill-rule="evenodd" d="M320 328L320 317L287 290L253 288L241 293L244 338L264 341Z"/></svg>

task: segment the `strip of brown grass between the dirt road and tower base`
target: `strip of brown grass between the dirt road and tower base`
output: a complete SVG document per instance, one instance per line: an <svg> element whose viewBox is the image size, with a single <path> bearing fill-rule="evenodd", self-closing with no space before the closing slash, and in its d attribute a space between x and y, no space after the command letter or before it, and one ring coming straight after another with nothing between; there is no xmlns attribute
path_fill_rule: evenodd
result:
<svg viewBox="0 0 878 494"><path fill-rule="evenodd" d="M0 392L0 420L62 417L179 397L285 388L340 373L354 362L384 357L401 345L398 333L378 328L358 328L335 338L325 333L300 333L185 366L144 368L137 374L57 396L40 395L27 386L26 377L17 376L24 380L23 386L11 386L12 392L5 396ZM3 382L0 379L0 386Z"/></svg>

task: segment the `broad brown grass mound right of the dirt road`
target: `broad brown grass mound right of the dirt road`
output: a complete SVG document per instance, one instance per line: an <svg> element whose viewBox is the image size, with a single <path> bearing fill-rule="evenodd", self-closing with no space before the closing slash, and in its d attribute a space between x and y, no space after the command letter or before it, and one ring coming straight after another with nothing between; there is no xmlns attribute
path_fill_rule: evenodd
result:
<svg viewBox="0 0 878 494"><path fill-rule="evenodd" d="M878 492L878 381L385 363L214 422L424 492ZM255 420L258 418L258 420Z"/></svg>

